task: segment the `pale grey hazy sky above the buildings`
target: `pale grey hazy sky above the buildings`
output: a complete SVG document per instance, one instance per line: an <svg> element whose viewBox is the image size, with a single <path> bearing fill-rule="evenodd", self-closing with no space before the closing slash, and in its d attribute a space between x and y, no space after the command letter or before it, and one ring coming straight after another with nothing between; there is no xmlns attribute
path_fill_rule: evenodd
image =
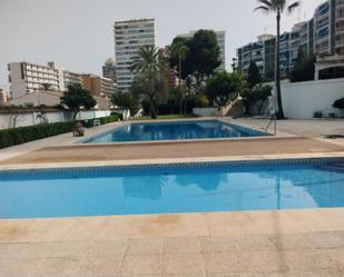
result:
<svg viewBox="0 0 344 277"><path fill-rule="evenodd" d="M321 2L303 0L283 16L282 30L311 19ZM7 63L23 60L100 75L115 58L114 22L140 18L156 19L158 47L189 30L225 30L229 69L238 47L276 33L275 16L255 7L256 0L0 0L0 88L8 89Z"/></svg>

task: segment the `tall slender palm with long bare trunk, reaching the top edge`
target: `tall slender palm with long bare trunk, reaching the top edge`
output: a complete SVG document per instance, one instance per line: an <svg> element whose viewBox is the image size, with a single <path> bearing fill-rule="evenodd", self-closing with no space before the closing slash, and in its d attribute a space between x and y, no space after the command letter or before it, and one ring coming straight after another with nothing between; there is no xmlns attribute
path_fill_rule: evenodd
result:
<svg viewBox="0 0 344 277"><path fill-rule="evenodd" d="M283 119L283 106L282 106L282 96L281 96L281 71L279 71L279 34L281 34L281 16L287 9L291 13L295 8L299 6L299 1L295 1L292 4L287 4L287 0L258 0L261 3L256 10L263 10L265 12L275 12L277 20L277 42L276 42L276 70L275 70L275 87L277 95L277 105L278 110L276 111L276 118Z"/></svg>

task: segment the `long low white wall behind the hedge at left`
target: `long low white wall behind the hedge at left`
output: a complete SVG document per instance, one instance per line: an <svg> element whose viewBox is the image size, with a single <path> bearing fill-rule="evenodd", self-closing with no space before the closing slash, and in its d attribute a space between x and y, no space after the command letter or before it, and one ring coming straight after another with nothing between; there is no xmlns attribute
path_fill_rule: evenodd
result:
<svg viewBox="0 0 344 277"><path fill-rule="evenodd" d="M19 113L0 113L0 129L7 129L16 120L16 127L32 126L41 122L41 112L19 112ZM88 120L94 118L108 117L110 110L88 110L79 112L77 119ZM43 113L49 123L71 121L72 113L68 111L49 111Z"/></svg>

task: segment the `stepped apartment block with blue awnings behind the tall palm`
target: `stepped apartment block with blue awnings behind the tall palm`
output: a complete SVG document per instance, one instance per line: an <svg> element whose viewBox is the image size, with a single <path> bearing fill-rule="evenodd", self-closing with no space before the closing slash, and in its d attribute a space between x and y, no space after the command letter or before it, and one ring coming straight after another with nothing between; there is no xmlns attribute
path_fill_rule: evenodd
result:
<svg viewBox="0 0 344 277"><path fill-rule="evenodd" d="M307 57L344 55L344 0L323 2L311 20L295 24L291 32L281 34L279 41L279 69L284 77L294 67L299 49ZM276 39L265 39L263 57L257 58L261 49L262 36L257 42L237 49L238 68L246 75L249 62L255 61L262 76L272 78L275 72Z"/></svg>

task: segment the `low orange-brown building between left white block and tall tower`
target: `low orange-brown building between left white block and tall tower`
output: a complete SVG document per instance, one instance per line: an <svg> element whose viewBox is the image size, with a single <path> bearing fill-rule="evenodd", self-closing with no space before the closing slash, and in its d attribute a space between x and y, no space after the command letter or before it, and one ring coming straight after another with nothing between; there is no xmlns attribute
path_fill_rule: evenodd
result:
<svg viewBox="0 0 344 277"><path fill-rule="evenodd" d="M109 78L82 75L82 85L92 96L110 98L115 93L115 83Z"/></svg>

